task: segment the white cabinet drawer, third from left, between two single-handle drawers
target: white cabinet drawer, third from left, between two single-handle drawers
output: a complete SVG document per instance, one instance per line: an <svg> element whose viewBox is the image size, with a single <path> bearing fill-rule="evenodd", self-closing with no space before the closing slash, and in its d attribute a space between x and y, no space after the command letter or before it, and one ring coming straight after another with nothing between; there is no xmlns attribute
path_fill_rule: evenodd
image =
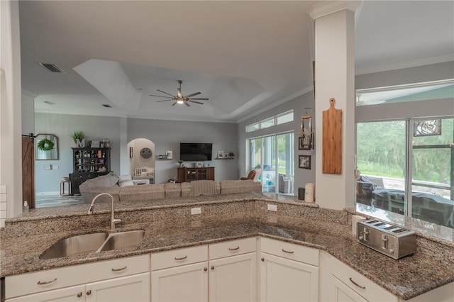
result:
<svg viewBox="0 0 454 302"><path fill-rule="evenodd" d="M257 250L256 242L257 239L252 237L214 243L208 247L210 260L255 252Z"/></svg>

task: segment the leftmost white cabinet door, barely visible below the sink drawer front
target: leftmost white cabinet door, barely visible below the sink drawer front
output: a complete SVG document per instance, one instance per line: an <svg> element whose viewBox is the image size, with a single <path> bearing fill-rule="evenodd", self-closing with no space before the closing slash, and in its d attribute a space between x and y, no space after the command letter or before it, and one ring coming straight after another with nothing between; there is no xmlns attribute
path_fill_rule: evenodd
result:
<svg viewBox="0 0 454 302"><path fill-rule="evenodd" d="M43 291L42 293L33 293L32 295L21 296L18 298L7 299L6 302L74 302L84 301L85 286L71 286L65 289L53 289L52 291Z"/></svg>

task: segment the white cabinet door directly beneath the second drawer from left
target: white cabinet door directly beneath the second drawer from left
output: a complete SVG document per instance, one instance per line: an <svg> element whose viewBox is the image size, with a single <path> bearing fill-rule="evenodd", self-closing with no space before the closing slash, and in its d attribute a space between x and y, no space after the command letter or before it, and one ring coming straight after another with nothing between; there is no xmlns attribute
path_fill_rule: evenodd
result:
<svg viewBox="0 0 454 302"><path fill-rule="evenodd" d="M208 263L151 272L151 301L208 301Z"/></svg>

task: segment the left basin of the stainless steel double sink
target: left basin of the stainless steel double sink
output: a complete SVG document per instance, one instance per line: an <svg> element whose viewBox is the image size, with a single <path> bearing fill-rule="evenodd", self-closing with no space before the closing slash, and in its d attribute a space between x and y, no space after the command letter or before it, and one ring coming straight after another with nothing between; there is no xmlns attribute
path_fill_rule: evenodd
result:
<svg viewBox="0 0 454 302"><path fill-rule="evenodd" d="M53 259L96 252L103 242L106 241L108 235L107 233L91 233L59 240L55 245L45 250L40 255L40 259Z"/></svg>

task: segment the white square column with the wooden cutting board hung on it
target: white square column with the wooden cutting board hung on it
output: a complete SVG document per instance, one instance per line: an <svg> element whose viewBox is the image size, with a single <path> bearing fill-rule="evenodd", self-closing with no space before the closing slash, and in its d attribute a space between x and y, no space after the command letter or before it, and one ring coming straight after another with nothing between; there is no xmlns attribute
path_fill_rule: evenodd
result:
<svg viewBox="0 0 454 302"><path fill-rule="evenodd" d="M314 6L315 28L315 201L323 208L353 206L355 194L355 10L358 2ZM323 111L335 98L342 110L342 174L322 173Z"/></svg>

